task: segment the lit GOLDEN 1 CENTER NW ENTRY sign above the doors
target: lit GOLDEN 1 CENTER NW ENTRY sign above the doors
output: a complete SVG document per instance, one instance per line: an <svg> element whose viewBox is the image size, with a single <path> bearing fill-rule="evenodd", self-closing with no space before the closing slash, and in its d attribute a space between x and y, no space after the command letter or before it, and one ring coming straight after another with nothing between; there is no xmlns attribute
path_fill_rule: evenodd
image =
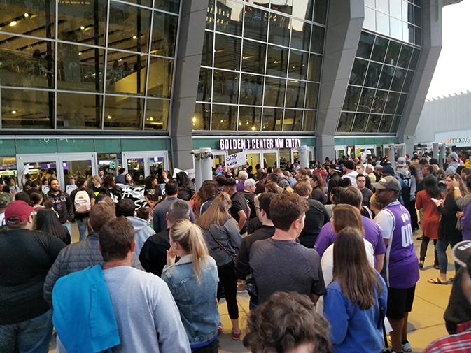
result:
<svg viewBox="0 0 471 353"><path fill-rule="evenodd" d="M300 138L221 138L219 140L220 150L274 150L300 146Z"/></svg>

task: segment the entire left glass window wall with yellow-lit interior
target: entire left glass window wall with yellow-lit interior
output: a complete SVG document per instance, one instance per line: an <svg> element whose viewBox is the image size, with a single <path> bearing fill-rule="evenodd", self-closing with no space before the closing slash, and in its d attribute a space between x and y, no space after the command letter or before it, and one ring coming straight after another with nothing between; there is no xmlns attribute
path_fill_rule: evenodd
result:
<svg viewBox="0 0 471 353"><path fill-rule="evenodd" d="M179 10L0 0L0 127L167 130Z"/></svg>

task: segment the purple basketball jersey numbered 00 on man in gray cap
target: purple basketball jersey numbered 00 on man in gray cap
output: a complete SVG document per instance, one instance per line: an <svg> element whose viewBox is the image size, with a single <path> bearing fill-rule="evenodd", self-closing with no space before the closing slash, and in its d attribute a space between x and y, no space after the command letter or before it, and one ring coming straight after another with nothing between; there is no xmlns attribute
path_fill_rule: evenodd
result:
<svg viewBox="0 0 471 353"><path fill-rule="evenodd" d="M394 217L394 230L386 247L386 284L393 288L410 288L419 280L419 260L414 251L410 214L400 203L383 210Z"/></svg>

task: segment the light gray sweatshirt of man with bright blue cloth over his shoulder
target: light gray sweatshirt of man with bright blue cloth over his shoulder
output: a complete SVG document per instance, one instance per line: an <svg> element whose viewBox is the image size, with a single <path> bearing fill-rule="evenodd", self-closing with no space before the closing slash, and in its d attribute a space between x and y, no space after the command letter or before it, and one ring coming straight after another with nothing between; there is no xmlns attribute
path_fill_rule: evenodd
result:
<svg viewBox="0 0 471 353"><path fill-rule="evenodd" d="M191 352L180 312L162 279L130 266L109 268L103 275L121 340L113 353Z"/></svg>

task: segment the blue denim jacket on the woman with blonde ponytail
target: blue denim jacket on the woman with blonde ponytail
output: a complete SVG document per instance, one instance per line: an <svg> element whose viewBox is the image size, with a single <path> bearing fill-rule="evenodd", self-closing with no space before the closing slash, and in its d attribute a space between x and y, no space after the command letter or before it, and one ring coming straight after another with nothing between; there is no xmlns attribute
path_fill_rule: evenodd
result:
<svg viewBox="0 0 471 353"><path fill-rule="evenodd" d="M193 255L186 255L162 271L164 280L180 310L190 345L211 340L218 333L219 312L216 293L218 290L218 268L216 261L208 257L201 265L198 283L192 264Z"/></svg>

